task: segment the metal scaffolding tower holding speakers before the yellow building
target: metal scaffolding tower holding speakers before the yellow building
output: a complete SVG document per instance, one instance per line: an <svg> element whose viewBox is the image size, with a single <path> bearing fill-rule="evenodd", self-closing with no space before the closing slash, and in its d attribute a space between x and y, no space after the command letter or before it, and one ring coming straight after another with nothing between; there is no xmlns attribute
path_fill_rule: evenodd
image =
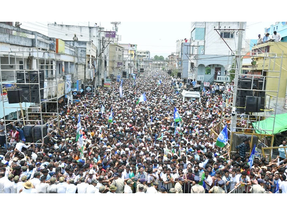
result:
<svg viewBox="0 0 287 215"><path fill-rule="evenodd" d="M277 104L278 101L278 93L279 93L279 82L281 77L281 69L282 69L282 62L283 62L283 53L282 55L276 54L276 53L269 53L269 52L254 52L253 50L250 51L250 55L247 54L248 52L241 52L239 55L239 59L242 59L245 56L251 57L252 61L254 58L257 57L263 57L263 66L262 69L255 68L255 64L253 67L253 64L251 63L251 66L248 68L247 73L243 73L242 69L242 63L241 60L239 60L239 65L236 67L236 56L231 56L232 60L232 68L228 69L227 75L234 75L234 85L227 84L225 85L224 90L224 97L223 97L223 105L222 105L222 116L221 116L221 122L220 122L220 128L218 131L220 132L221 129L225 126L227 122L230 122L230 126L228 128L230 132L230 143L231 143L231 151L235 151L235 146L238 144L241 144L242 142L236 142L234 143L234 135L240 135L243 134L245 136L251 137L251 144L255 144L257 147L257 143L262 144L262 147L273 147L273 141L274 141L274 125L275 125L275 119L276 119L276 109L277 105L274 105L271 107L270 100L272 98L275 99L275 104ZM238 57L238 56L237 56ZM257 65L258 66L258 65ZM276 70L275 67L280 68L279 70ZM239 69L238 69L239 68ZM256 73L254 71L256 70ZM239 84L236 84L238 79L240 78L250 78L251 79L251 87L249 89L242 88L239 86ZM258 79L263 80L262 83L262 89L254 89L254 83ZM272 85L277 86L277 90L271 90L270 88L266 89L266 80L269 82L272 81ZM233 87L233 92L228 90L229 87ZM238 91L244 90L251 94L251 96L256 95L256 93L262 93L264 94L264 108L260 110L260 112L245 112L245 107L237 107L236 106L236 97L238 96ZM251 92L250 92L251 91ZM269 99L267 99L267 97ZM240 108L243 109L243 111L240 111ZM235 110L233 112L232 110ZM224 116L223 113L233 113L235 116ZM274 116L271 115L271 112L274 112ZM260 121L266 118L272 118L273 120L273 128L271 130L264 130L260 127ZM246 126L238 126L242 125L243 122L245 122ZM252 123L257 122L256 126L254 127ZM251 126L252 125L252 126ZM260 132L260 134L256 134L255 130ZM219 133L218 133L219 134ZM255 136L257 136L255 139ZM266 138L268 138L268 141L266 141ZM253 140L252 140L253 139ZM258 141L258 142L257 142ZM251 145L252 146L252 145ZM251 148L252 149L252 148ZM269 151L269 153L272 156L272 151ZM271 157L270 156L270 157Z"/></svg>

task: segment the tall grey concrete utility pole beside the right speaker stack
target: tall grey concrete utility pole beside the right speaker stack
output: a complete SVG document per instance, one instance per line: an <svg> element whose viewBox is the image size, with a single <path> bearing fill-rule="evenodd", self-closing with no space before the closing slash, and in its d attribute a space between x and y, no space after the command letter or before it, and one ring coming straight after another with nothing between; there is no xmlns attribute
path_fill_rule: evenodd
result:
<svg viewBox="0 0 287 215"><path fill-rule="evenodd" d="M239 35L238 35L238 44L236 51L236 69L234 75L234 87L233 87L233 101L232 107L236 106L236 93L237 93L237 84L238 84L238 74L241 70L241 48L242 48L242 38L243 38L243 22L239 22ZM231 80L232 81L232 80ZM230 130L232 132L236 131L236 118L237 114L231 116L231 127Z"/></svg>

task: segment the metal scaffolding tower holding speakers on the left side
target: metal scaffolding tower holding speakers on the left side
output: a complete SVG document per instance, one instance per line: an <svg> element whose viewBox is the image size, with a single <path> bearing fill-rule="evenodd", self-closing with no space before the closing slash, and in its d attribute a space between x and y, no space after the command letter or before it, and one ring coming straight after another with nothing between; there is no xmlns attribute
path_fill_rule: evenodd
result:
<svg viewBox="0 0 287 215"><path fill-rule="evenodd" d="M20 73L24 79L19 80ZM34 75L33 79L31 79L31 75ZM49 51L49 47L9 48L9 51L0 51L0 81L5 131L7 131L7 126L17 121L22 122L24 126L37 124L40 121L42 140L45 140L47 134L43 130L47 130L49 124L54 126L54 123L57 123L56 125L59 127L56 55L55 52ZM5 87L7 84L9 87ZM9 91L24 86L30 93L20 95L21 102L11 105L3 90ZM32 89L36 99L31 100ZM48 112L47 104L50 103L55 104L56 111ZM16 110L17 120L9 119L6 116L11 113L7 109ZM34 142L36 141L34 140Z"/></svg>

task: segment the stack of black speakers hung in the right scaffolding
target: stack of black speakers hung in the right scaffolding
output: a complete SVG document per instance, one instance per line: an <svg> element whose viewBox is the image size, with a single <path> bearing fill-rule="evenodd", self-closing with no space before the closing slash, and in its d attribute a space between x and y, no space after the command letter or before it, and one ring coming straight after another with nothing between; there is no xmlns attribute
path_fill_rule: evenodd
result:
<svg viewBox="0 0 287 215"><path fill-rule="evenodd" d="M238 88L236 93L236 107L245 107L237 108L236 111L243 112L263 112L264 102L265 102L265 80L264 79L253 79L252 78L242 78L238 79ZM264 87L263 87L264 85ZM249 89L249 90L245 90ZM252 91L250 89L261 90L261 91Z"/></svg>

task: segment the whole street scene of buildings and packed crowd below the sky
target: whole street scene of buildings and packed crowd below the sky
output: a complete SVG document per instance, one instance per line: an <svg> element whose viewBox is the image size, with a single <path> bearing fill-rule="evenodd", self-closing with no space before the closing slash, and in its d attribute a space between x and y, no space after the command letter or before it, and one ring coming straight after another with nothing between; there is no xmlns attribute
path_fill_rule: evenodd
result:
<svg viewBox="0 0 287 215"><path fill-rule="evenodd" d="M166 58L112 24L0 23L1 192L286 192L286 22L191 22Z"/></svg>

